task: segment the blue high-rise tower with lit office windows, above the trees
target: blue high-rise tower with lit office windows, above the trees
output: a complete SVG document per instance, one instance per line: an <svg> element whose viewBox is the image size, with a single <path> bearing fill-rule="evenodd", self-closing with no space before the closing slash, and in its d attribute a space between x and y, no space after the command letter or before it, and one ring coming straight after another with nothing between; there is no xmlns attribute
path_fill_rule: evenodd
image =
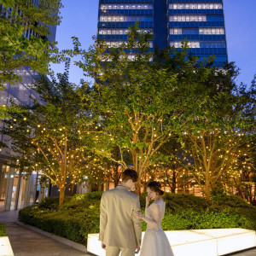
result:
<svg viewBox="0 0 256 256"><path fill-rule="evenodd" d="M142 31L154 32L152 47L180 48L187 39L201 59L215 55L219 67L227 61L223 0L100 0L98 38L118 46L136 20Z"/></svg>

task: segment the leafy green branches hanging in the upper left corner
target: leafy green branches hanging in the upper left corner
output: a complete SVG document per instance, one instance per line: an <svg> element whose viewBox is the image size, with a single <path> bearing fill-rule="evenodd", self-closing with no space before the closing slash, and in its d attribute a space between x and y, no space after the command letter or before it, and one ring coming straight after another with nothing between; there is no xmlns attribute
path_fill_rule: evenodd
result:
<svg viewBox="0 0 256 256"><path fill-rule="evenodd" d="M4 82L16 82L20 76L14 72L30 66L38 73L49 72L49 61L56 61L55 43L46 38L49 26L60 24L61 0L43 0L38 5L32 0L1 0L0 7L0 87ZM10 11L11 10L11 11ZM53 15L54 14L54 15ZM32 30L38 37L26 38Z"/></svg>

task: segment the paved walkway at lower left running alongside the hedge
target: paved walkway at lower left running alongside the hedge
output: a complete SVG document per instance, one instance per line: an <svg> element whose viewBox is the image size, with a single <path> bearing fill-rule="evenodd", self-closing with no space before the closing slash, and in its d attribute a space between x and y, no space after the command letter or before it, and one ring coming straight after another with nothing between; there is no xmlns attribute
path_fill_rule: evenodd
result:
<svg viewBox="0 0 256 256"><path fill-rule="evenodd" d="M68 247L32 230L15 224L18 211L0 212L0 222L7 228L7 236L15 256L85 256L92 255Z"/></svg>

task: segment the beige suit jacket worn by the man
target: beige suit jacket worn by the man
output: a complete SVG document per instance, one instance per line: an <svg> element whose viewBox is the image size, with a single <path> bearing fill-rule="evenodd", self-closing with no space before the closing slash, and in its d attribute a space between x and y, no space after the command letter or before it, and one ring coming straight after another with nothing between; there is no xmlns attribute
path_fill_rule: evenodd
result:
<svg viewBox="0 0 256 256"><path fill-rule="evenodd" d="M139 197L119 185L103 193L101 201L100 237L107 246L136 248L141 246L142 221Z"/></svg>

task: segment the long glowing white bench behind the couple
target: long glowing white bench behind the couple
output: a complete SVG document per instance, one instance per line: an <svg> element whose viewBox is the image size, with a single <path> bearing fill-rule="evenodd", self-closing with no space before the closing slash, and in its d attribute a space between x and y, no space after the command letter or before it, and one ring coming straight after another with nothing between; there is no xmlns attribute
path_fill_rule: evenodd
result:
<svg viewBox="0 0 256 256"><path fill-rule="evenodd" d="M256 232L253 230L216 229L165 232L175 256L188 254L189 256L217 256L256 247ZM87 250L89 253L105 256L106 252L102 249L98 237L98 234L88 235Z"/></svg>

